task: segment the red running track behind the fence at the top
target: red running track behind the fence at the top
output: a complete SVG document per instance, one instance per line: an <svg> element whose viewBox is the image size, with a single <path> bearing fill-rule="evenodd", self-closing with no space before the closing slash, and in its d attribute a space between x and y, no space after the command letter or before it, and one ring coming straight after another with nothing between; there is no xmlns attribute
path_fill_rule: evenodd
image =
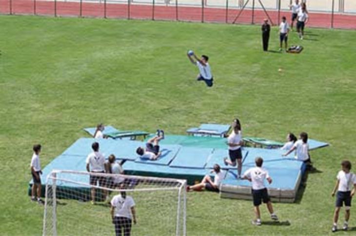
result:
<svg viewBox="0 0 356 236"><path fill-rule="evenodd" d="M132 19L161 19L181 21L203 21L232 23L239 9L216 8L216 7L188 7L188 6L165 6L143 4L106 4L107 18L132 18ZM83 2L81 11L79 2L43 1L43 0L0 0L1 14L24 14L24 15L49 15L49 16L82 16L82 17L105 17L104 3ZM273 23L278 23L278 12L268 10ZM280 12L280 16L290 18L289 12ZM252 21L252 10L242 11L236 23L260 24L266 18L262 10L255 10ZM330 13L309 13L308 26L332 27L332 15ZM334 28L356 29L356 14L334 15Z"/></svg>

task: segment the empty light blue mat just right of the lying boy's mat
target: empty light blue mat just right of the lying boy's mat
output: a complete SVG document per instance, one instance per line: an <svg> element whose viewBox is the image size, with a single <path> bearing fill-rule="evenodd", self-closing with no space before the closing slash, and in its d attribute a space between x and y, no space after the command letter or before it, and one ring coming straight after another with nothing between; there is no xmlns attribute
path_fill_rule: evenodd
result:
<svg viewBox="0 0 356 236"><path fill-rule="evenodd" d="M176 158L171 162L171 167L204 168L206 161L213 152L213 148L180 148Z"/></svg>

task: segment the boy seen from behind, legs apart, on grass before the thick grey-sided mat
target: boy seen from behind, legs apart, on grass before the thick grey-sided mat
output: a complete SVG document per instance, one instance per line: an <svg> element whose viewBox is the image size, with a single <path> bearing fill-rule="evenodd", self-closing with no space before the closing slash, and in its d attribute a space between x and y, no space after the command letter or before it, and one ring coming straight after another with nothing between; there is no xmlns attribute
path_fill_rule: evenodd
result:
<svg viewBox="0 0 356 236"><path fill-rule="evenodd" d="M268 175L268 171L262 168L263 159L257 157L255 159L256 167L248 169L243 174L243 179L252 182L252 197L254 202L254 210L256 219L252 221L255 225L261 225L261 216L259 212L259 205L262 203L267 204L267 209L271 214L273 220L278 220L277 215L273 212L271 199L268 196L267 188L264 186L264 180L267 179L268 183L272 183L271 177Z"/></svg>

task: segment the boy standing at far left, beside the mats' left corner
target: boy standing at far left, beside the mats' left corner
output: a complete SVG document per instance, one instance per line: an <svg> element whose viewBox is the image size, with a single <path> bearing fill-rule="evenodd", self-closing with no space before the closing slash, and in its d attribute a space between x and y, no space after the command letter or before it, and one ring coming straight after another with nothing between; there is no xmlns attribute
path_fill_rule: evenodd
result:
<svg viewBox="0 0 356 236"><path fill-rule="evenodd" d="M41 177L40 175L42 174L41 170L41 163L40 163L40 152L41 152L41 145L37 144L33 146L33 155L31 159L31 174L32 174L32 188L31 188L31 200L36 201L39 204L43 204L44 201L41 200ZM36 193L37 193L37 199L36 199Z"/></svg>

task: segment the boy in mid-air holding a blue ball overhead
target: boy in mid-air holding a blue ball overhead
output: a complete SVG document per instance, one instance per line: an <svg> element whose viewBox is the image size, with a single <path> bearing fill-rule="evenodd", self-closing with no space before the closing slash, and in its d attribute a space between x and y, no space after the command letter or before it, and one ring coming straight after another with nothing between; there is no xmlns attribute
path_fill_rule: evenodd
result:
<svg viewBox="0 0 356 236"><path fill-rule="evenodd" d="M187 56L189 60L199 68L200 73L198 74L197 80L202 80L208 87L212 87L214 79L208 63L209 57L207 55L201 55L199 59L193 51L189 51Z"/></svg>

